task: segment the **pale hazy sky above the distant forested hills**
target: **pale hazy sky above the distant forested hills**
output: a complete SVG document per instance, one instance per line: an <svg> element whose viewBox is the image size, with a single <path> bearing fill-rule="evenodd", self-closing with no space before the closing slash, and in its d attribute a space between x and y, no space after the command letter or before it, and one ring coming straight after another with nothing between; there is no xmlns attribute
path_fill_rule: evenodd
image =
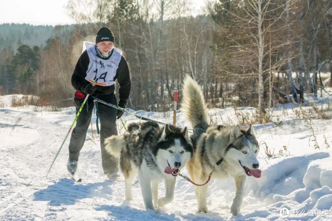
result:
<svg viewBox="0 0 332 221"><path fill-rule="evenodd" d="M205 0L191 0L194 8L205 5ZM0 24L28 23L57 25L75 23L66 13L68 0L0 0Z"/></svg>

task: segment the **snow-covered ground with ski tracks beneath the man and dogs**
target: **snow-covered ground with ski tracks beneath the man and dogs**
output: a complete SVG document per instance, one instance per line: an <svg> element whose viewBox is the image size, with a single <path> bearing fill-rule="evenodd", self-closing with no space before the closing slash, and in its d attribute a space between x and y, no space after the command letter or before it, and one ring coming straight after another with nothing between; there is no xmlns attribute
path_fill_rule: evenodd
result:
<svg viewBox="0 0 332 221"><path fill-rule="evenodd" d="M241 214L232 217L229 210L235 186L231 178L208 184L207 214L196 212L194 186L181 177L176 181L174 200L157 208L157 214L145 211L139 184L133 185L134 201L125 201L124 183L109 181L103 174L95 117L92 121L94 134L89 129L75 175L82 178L82 183L71 180L66 169L70 137L46 178L75 118L74 108L41 112L40 107L34 106L10 107L10 98L7 95L0 99L1 221L332 220L332 120L312 119L320 147L314 149L314 141L309 145L314 137L308 121L295 119L294 110L299 109L296 105L274 110L274 115L278 116L275 122L279 125L282 121L280 126L274 123L254 125L258 139L266 143L273 156L266 155L266 146L262 144L259 154L262 177L248 177ZM331 98L320 100L319 105L331 104ZM164 123L173 122L172 112L135 113ZM177 124L190 126L181 111L177 113ZM232 108L209 110L211 120L218 124L242 122L243 116L250 119L252 113L250 107L236 111ZM122 119L125 123L137 120L127 114ZM122 133L124 128L120 121L117 123ZM187 171L183 169L182 173L187 174ZM159 194L165 194L163 182L159 185Z"/></svg>

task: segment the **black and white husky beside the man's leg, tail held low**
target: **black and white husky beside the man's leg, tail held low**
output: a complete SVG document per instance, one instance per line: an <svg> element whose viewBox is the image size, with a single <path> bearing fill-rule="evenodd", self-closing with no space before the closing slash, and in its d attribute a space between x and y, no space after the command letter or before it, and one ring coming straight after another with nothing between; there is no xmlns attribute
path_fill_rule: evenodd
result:
<svg viewBox="0 0 332 221"><path fill-rule="evenodd" d="M123 135L105 139L105 149L120 159L124 174L125 199L133 200L131 183L138 173L146 209L155 211L171 202L179 170L193 156L187 128L173 125L159 128L154 121L131 123ZM158 199L159 181L164 179L166 194Z"/></svg>

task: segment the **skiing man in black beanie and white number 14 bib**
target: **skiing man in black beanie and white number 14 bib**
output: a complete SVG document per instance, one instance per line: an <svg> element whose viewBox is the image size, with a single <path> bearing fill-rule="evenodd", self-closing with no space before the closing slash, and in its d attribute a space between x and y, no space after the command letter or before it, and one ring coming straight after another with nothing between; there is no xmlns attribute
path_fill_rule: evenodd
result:
<svg viewBox="0 0 332 221"><path fill-rule="evenodd" d="M86 50L78 59L71 83L77 90L74 98L76 113L78 112L87 94L90 96L77 118L76 126L71 134L69 143L69 159L67 169L71 174L77 170L77 162L80 150L83 147L86 133L91 121L94 107L93 97L97 97L107 103L117 104L114 94L117 80L119 88L119 106L126 107L129 97L131 82L129 69L126 60L122 56L122 51L113 47L114 35L107 27L102 27L96 35L96 44L84 42ZM95 86L92 82L97 81ZM100 118L100 148L102 153L102 164L104 174L109 179L116 179L118 173L118 160L105 150L104 139L117 135L116 119L119 119L123 112L113 107L98 103L98 114Z"/></svg>

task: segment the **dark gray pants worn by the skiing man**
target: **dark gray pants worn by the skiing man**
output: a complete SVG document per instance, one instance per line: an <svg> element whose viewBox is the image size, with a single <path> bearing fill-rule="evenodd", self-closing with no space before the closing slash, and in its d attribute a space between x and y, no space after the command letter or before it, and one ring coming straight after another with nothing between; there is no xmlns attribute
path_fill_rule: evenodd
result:
<svg viewBox="0 0 332 221"><path fill-rule="evenodd" d="M117 104L117 99L114 94L98 98L107 103L115 105ZM74 98L74 106L76 107L76 114L80 109L83 101L84 99L77 99L76 97ZM87 103L88 103L88 111L86 107ZM78 161L78 157L83 147L86 138L86 133L90 125L93 107L94 107L93 98L92 96L89 96L86 104L83 106L83 109L76 120L76 126L73 129L73 132L70 137L70 143L69 143L70 159ZM119 171L118 168L119 161L114 156L106 152L104 144L105 138L111 135L118 134L117 124L115 122L117 120L117 109L102 103L98 103L98 114L100 119L100 148L102 153L102 164L103 164L104 174L117 173Z"/></svg>

